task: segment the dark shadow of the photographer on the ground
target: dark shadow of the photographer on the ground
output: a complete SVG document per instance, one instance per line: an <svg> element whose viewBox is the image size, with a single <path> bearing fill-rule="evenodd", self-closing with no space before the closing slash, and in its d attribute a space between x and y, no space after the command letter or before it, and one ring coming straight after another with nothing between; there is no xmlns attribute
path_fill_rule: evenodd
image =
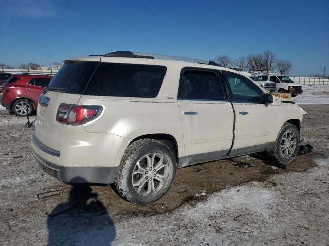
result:
<svg viewBox="0 0 329 246"><path fill-rule="evenodd" d="M48 245L111 245L115 226L97 193L80 177L71 183L68 201L48 214Z"/></svg>

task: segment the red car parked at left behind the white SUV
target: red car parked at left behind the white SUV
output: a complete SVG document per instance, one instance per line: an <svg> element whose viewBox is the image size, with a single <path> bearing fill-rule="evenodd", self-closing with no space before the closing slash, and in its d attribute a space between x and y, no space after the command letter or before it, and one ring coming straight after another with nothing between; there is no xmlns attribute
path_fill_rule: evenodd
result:
<svg viewBox="0 0 329 246"><path fill-rule="evenodd" d="M3 84L1 105L17 116L32 115L38 104L38 96L52 78L53 75L13 74Z"/></svg>

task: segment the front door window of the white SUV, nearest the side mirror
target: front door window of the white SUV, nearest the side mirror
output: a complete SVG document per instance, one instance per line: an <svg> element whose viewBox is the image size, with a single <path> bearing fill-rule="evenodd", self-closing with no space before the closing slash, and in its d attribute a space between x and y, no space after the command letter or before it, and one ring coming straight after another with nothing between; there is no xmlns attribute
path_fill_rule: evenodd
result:
<svg viewBox="0 0 329 246"><path fill-rule="evenodd" d="M263 92L249 79L235 73L224 72L232 101L263 104Z"/></svg>

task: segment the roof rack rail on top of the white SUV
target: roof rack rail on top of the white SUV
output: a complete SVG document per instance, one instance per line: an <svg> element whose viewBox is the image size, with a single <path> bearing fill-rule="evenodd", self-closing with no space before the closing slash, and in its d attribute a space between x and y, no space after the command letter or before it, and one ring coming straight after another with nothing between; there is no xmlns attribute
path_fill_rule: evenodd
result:
<svg viewBox="0 0 329 246"><path fill-rule="evenodd" d="M94 56L94 55L91 55L91 56ZM215 61L192 59L192 58L171 56L171 55L140 53L140 52L132 52L132 51L115 51L115 52L107 53L103 56L105 56L105 57L145 58L145 59L162 58L162 59L172 59L172 60L184 60L184 61L190 61L192 63L201 63L201 64L208 64L208 65L213 65L213 66L221 66L218 63L215 63Z"/></svg>

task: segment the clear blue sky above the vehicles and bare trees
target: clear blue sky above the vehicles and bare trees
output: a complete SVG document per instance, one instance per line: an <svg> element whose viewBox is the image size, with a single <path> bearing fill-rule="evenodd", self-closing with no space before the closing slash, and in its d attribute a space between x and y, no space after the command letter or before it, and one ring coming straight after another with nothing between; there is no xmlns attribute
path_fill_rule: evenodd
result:
<svg viewBox="0 0 329 246"><path fill-rule="evenodd" d="M0 0L0 63L132 50L212 59L272 50L329 74L329 1Z"/></svg>

